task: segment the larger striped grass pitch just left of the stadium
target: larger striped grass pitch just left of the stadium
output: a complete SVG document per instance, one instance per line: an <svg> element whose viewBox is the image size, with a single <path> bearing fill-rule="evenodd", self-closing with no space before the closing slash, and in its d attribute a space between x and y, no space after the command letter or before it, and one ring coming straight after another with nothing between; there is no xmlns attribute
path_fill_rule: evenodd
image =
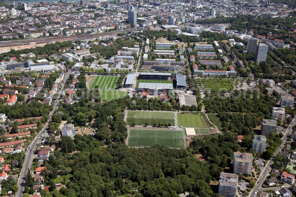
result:
<svg viewBox="0 0 296 197"><path fill-rule="evenodd" d="M118 77L115 76L97 76L90 89L94 89L97 85L102 90L115 90L117 80Z"/></svg>

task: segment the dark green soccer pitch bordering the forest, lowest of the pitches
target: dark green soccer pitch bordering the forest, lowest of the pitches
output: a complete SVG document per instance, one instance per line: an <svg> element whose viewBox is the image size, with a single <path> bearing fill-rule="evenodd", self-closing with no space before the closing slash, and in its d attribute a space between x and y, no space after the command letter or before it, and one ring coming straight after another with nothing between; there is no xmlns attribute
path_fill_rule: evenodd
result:
<svg viewBox="0 0 296 197"><path fill-rule="evenodd" d="M180 130L131 129L128 136L129 147L147 147L159 144L170 148L184 148Z"/></svg>

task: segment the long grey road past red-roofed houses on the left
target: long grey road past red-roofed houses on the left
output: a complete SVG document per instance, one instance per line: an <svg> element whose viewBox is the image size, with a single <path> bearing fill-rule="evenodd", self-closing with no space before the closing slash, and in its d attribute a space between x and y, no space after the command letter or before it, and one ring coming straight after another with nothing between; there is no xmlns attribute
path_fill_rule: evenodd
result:
<svg viewBox="0 0 296 197"><path fill-rule="evenodd" d="M70 75L71 71L69 70L69 72L67 72L67 75L65 76L65 79L64 79L64 83L62 83L62 86L60 88L60 91L58 93L58 97L60 97L61 94L64 94L65 93L65 90L64 89L64 86L65 86L65 82L66 80L68 79L69 75ZM34 140L30 143L30 151L26 152L25 154L25 159L24 159L24 163L22 165L22 170L20 172L20 177L19 177L19 180L17 182L17 186L18 186L18 190L17 192L15 193L15 196L16 197L22 197L22 192L25 190L25 178L26 178L26 175L28 173L28 169L31 169L31 166L32 166L32 163L33 163L33 159L34 159L34 150L37 146L37 143L38 143L38 137L41 137L46 129L48 128L48 124L49 122L52 120L52 114L54 114L55 110L58 108L58 104L59 104L59 99L57 99L55 102L54 102L54 107L52 109L52 111L49 113L49 120L45 123L44 127L41 129L41 131L36 135L36 138L34 138Z"/></svg>

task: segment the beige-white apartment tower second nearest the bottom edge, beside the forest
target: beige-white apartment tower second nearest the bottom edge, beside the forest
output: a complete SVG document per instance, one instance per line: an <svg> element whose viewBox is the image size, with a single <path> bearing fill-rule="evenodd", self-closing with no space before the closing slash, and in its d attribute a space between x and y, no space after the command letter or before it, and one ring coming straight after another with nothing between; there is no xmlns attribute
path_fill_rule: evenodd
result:
<svg viewBox="0 0 296 197"><path fill-rule="evenodd" d="M233 173L251 175L253 155L251 153L234 152L233 154Z"/></svg>

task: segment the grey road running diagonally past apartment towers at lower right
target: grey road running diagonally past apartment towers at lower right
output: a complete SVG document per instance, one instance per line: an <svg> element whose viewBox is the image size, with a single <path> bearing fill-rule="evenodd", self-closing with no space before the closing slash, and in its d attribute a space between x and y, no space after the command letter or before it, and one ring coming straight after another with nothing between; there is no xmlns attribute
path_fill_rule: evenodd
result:
<svg viewBox="0 0 296 197"><path fill-rule="evenodd" d="M280 151L281 151L281 147L286 143L286 137L292 132L293 130L293 126L296 124L296 119L294 118L292 123L289 125L289 127L286 129L286 131L284 132L284 137L282 138L282 143L281 145L276 149L276 151L274 152L274 156L276 156ZM261 185L263 184L264 180L266 179L267 176L269 176L269 172L267 172L267 166L269 167L269 171L270 171L270 165L274 164L273 160L268 160L267 164L265 165L265 167L263 168L260 177L262 176L262 178L258 178L257 183L255 184L255 188L253 188L250 192L249 196L253 196L255 191L263 191L265 190L265 188L262 188ZM258 183L259 182L259 183ZM289 185L290 186L290 185ZM276 187L278 188L278 187ZM269 188L270 189L270 188Z"/></svg>

